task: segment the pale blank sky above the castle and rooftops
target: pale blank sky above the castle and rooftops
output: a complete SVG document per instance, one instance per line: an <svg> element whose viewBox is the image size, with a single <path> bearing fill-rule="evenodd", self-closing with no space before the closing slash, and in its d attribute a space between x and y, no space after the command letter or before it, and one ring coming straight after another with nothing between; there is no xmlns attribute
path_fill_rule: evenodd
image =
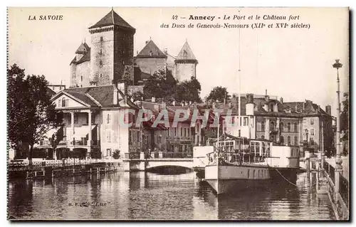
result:
<svg viewBox="0 0 356 227"><path fill-rule="evenodd" d="M45 75L50 83L69 85L69 63L80 43L90 46L88 27L111 8L10 8L9 65L18 64L26 74ZM134 53L152 39L163 51L177 56L187 40L199 61L197 79L201 97L215 86L229 93L255 93L283 97L284 102L312 100L336 112L335 59L340 68L341 94L349 90L349 12L346 8L114 8L136 28ZM246 20L223 21L224 15ZM40 21L40 15L63 15L62 21ZM178 20L172 20L177 15ZM216 16L214 21L189 21L193 16ZM287 21L247 20L248 16L287 16ZM299 16L288 21L288 16ZM37 20L28 20L36 16ZM185 17L186 19L180 19ZM260 28L251 23L308 23L310 28ZM177 23L186 28L160 28ZM189 23L248 23L249 28L187 28ZM240 46L240 49L239 49ZM239 64L240 62L240 64ZM239 73L239 65L241 72ZM341 95L342 96L342 95Z"/></svg>

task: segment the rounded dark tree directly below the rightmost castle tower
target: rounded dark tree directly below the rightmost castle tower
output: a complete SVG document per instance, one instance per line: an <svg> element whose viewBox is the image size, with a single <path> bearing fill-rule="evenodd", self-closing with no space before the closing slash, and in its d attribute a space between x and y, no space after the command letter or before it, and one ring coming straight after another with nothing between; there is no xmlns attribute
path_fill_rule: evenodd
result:
<svg viewBox="0 0 356 227"><path fill-rule="evenodd" d="M192 77L191 80L184 80L177 85L175 99L178 102L192 101L201 102L200 98L201 85L199 81Z"/></svg>

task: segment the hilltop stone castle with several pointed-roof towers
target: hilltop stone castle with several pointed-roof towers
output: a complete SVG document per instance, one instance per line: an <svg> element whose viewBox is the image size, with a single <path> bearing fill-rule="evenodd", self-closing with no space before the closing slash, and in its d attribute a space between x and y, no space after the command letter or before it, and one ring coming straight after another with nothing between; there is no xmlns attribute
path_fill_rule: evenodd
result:
<svg viewBox="0 0 356 227"><path fill-rule="evenodd" d="M135 32L113 9L90 26L90 46L81 43L70 62L70 88L111 85L119 80L142 85L157 70L168 70L179 82L196 78L198 60L187 41L177 57L159 50L152 40L134 56Z"/></svg>

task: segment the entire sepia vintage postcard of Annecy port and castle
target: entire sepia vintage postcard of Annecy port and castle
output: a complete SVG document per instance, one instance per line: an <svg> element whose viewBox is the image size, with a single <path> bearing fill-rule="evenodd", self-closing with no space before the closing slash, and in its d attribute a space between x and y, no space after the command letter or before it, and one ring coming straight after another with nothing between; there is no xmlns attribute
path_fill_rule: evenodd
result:
<svg viewBox="0 0 356 227"><path fill-rule="evenodd" d="M349 220L348 8L8 8L7 217Z"/></svg>

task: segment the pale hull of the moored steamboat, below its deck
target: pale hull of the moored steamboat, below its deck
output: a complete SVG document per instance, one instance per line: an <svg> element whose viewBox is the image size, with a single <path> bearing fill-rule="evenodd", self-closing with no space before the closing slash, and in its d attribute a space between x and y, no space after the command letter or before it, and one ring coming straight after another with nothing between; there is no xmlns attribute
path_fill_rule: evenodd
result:
<svg viewBox="0 0 356 227"><path fill-rule="evenodd" d="M297 169L272 168L265 165L219 165L205 167L205 179L216 194L266 187L274 182L295 184Z"/></svg>

